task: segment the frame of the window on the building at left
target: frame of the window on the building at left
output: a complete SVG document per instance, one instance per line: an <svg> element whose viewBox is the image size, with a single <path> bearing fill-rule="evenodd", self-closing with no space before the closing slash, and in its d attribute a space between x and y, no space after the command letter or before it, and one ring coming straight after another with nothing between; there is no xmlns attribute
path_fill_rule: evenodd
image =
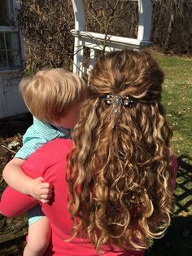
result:
<svg viewBox="0 0 192 256"><path fill-rule="evenodd" d="M0 33L3 35L5 49L3 49L1 52L6 53L6 66L0 66L0 73L7 73L7 72L17 72L22 69L24 69L24 44L23 44L23 38L19 29L19 26L17 24L17 15L20 11L20 0L7 0L7 11L10 13L10 15L13 15L13 19L15 20L15 24L11 26L1 26L0 25ZM7 49L7 42L6 42L6 33L17 33L18 35L18 46L16 48L10 48ZM15 37L17 37L15 35ZM14 38L13 38L14 39ZM1 49L0 49L1 50ZM8 51L18 51L18 54L20 55L20 62L18 64L15 64L15 66L12 66L9 64L8 60ZM1 56L0 56L1 57Z"/></svg>

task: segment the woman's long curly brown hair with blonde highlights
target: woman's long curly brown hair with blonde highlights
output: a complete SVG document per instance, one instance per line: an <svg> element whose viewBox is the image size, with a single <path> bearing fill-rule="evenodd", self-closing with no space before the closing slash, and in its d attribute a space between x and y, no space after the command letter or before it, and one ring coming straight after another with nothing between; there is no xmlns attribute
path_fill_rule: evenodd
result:
<svg viewBox="0 0 192 256"><path fill-rule="evenodd" d="M103 55L90 73L66 179L72 237L86 234L98 251L146 249L170 224L172 130L160 103L163 82L145 51ZM106 95L129 95L133 105L114 111Z"/></svg>

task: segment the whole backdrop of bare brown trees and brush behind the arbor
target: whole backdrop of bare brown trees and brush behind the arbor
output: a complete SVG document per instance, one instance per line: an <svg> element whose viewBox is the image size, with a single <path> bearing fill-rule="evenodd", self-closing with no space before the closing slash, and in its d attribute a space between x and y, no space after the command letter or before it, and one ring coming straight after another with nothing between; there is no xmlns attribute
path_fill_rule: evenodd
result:
<svg viewBox="0 0 192 256"><path fill-rule="evenodd" d="M163 51L191 52L191 0L152 0L151 40ZM121 0L84 0L85 30L137 37L137 2ZM27 70L64 66L72 70L74 29L70 0L28 0L20 11ZM88 55L87 55L88 56ZM86 52L85 52L86 57Z"/></svg>

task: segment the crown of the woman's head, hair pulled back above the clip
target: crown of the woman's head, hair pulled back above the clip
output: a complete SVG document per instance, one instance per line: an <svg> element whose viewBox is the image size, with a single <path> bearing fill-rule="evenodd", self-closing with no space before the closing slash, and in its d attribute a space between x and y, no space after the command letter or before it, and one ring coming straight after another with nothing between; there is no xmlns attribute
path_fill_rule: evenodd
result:
<svg viewBox="0 0 192 256"><path fill-rule="evenodd" d="M163 82L164 73L149 53L114 51L94 65L89 77L89 98L129 95L138 103L151 104L159 101Z"/></svg>

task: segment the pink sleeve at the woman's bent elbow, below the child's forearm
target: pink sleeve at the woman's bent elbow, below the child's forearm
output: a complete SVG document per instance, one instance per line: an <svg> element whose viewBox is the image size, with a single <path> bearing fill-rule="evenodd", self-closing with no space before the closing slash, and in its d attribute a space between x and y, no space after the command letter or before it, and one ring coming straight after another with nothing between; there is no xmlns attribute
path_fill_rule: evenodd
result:
<svg viewBox="0 0 192 256"><path fill-rule="evenodd" d="M0 212L7 217L16 217L24 214L34 205L37 205L37 201L33 197L26 196L8 186L2 193Z"/></svg>

